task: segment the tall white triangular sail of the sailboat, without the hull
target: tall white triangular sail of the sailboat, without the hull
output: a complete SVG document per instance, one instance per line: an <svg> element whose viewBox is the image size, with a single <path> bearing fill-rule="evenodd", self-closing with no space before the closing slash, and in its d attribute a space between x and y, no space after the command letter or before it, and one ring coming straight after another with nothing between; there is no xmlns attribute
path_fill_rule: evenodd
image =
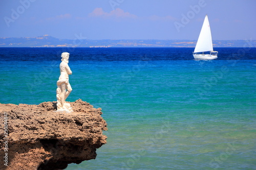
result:
<svg viewBox="0 0 256 170"><path fill-rule="evenodd" d="M194 53L209 52L213 50L214 49L212 48L210 24L207 15L205 15L203 27L197 40L197 45Z"/></svg>

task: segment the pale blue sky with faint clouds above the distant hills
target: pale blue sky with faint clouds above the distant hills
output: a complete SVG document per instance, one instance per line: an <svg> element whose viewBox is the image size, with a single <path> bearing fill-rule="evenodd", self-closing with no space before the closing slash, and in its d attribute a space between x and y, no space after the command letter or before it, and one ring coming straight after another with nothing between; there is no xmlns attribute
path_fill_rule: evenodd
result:
<svg viewBox="0 0 256 170"><path fill-rule="evenodd" d="M254 0L1 0L0 37L256 39Z"/></svg>

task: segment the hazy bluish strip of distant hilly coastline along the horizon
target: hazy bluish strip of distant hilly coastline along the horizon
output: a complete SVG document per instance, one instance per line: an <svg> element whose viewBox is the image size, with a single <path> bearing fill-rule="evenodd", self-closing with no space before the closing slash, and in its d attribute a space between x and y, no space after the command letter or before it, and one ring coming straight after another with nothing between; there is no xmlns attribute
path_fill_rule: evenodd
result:
<svg viewBox="0 0 256 170"><path fill-rule="evenodd" d="M0 38L0 47L195 47L197 40L58 39L49 35ZM214 47L256 47L256 40L214 40Z"/></svg>

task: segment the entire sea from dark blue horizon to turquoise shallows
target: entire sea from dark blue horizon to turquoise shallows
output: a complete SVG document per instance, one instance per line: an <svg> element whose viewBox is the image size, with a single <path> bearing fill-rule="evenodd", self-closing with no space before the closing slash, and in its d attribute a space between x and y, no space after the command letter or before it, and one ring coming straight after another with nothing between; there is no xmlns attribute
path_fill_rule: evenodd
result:
<svg viewBox="0 0 256 170"><path fill-rule="evenodd" d="M66 169L256 169L256 48L0 48L0 103L56 101L61 53L73 91L102 108L107 143Z"/></svg>

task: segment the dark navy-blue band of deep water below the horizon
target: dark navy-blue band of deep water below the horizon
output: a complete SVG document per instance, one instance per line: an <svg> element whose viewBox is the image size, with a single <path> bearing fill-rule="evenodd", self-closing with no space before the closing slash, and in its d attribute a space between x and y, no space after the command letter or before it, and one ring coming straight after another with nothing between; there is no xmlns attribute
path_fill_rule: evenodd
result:
<svg viewBox="0 0 256 170"><path fill-rule="evenodd" d="M217 60L253 60L256 48L215 48ZM70 61L137 61L191 60L194 48L0 48L0 61L59 60L62 52L70 53Z"/></svg>

